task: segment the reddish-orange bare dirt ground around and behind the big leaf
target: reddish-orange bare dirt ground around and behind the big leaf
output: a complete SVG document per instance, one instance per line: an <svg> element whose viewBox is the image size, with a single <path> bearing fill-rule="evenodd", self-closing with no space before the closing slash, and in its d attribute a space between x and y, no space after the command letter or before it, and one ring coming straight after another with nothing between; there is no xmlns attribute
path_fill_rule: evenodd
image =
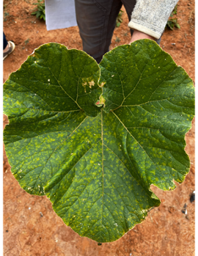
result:
<svg viewBox="0 0 198 256"><path fill-rule="evenodd" d="M2 82L21 66L34 48L43 43L62 43L67 48L82 49L78 27L47 31L44 21L31 15L36 0L3 0L3 31L12 40L15 51L4 60ZM172 55L196 84L195 74L195 0L180 0L177 19L180 29L166 30L161 47ZM122 8L122 10L124 10ZM129 42L128 18L114 31L111 48ZM120 42L118 42L120 40ZM173 44L173 45L172 45ZM3 116L3 128L7 118ZM174 191L161 191L151 186L161 205L148 214L142 224L118 241L98 246L89 238L81 238L54 213L47 197L27 194L10 172L4 152L3 183L3 255L4 256L194 256L196 201L190 202L196 190L195 119L186 134L186 151L191 169L183 184ZM187 205L187 214L181 212Z"/></svg>

